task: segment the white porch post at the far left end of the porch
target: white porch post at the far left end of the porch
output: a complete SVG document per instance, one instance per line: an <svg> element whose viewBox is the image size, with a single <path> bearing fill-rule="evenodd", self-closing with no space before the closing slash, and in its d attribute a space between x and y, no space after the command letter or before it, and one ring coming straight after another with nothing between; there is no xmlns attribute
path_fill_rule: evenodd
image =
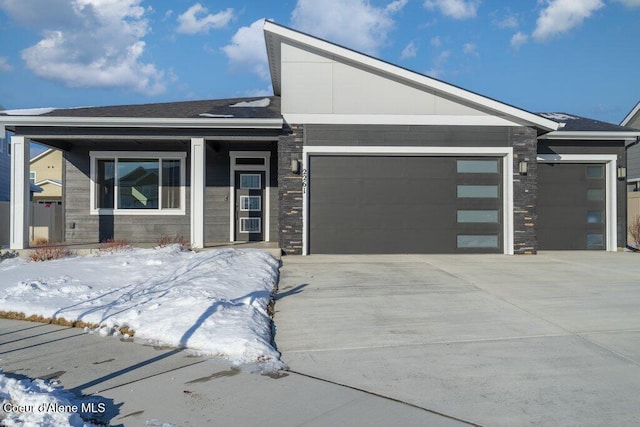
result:
<svg viewBox="0 0 640 427"><path fill-rule="evenodd" d="M11 137L11 249L29 247L29 140L23 136Z"/></svg>

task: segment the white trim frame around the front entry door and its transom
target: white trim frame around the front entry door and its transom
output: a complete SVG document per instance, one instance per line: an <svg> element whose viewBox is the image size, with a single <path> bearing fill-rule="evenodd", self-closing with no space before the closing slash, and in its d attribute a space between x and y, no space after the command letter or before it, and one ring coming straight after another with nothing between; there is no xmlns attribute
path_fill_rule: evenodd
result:
<svg viewBox="0 0 640 427"><path fill-rule="evenodd" d="M237 158L264 159L264 165L236 165ZM236 171L264 172L264 241L269 241L271 231L271 152L229 151L229 241L235 242Z"/></svg>

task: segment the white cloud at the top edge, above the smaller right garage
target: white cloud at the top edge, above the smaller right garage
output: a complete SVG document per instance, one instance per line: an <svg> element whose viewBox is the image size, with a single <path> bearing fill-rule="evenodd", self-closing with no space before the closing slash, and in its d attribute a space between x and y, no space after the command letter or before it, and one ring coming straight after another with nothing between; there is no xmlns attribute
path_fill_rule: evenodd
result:
<svg viewBox="0 0 640 427"><path fill-rule="evenodd" d="M545 3L533 32L533 38L538 42L566 33L604 7L602 0L545 0Z"/></svg>

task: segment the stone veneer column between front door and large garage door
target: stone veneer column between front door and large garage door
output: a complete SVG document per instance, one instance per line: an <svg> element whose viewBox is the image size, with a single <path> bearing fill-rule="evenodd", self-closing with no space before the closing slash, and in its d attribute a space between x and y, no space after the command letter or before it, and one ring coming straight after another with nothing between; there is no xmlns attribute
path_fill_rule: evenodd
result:
<svg viewBox="0 0 640 427"><path fill-rule="evenodd" d="M278 141L278 210L280 248L288 255L302 253L302 145L304 125L289 125ZM299 173L291 160L300 160Z"/></svg>

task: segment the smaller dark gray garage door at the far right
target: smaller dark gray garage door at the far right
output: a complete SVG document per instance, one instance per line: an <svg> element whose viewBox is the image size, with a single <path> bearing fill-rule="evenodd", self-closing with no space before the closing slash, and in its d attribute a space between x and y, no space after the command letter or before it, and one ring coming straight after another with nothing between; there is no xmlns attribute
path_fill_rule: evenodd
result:
<svg viewBox="0 0 640 427"><path fill-rule="evenodd" d="M606 249L605 165L538 165L538 247Z"/></svg>

